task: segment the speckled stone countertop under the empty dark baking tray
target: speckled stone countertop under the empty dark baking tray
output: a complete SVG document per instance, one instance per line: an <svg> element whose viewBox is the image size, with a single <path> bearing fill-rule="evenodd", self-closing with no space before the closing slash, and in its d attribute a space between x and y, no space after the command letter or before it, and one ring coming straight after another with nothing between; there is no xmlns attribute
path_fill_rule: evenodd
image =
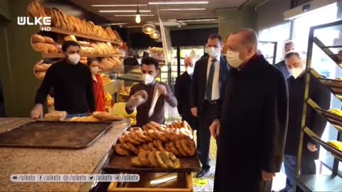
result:
<svg viewBox="0 0 342 192"><path fill-rule="evenodd" d="M30 122L0 118L0 133ZM88 191L93 183L13 183L11 174L100 174L108 152L128 121L113 124L85 149L30 149L0 147L0 191Z"/></svg>

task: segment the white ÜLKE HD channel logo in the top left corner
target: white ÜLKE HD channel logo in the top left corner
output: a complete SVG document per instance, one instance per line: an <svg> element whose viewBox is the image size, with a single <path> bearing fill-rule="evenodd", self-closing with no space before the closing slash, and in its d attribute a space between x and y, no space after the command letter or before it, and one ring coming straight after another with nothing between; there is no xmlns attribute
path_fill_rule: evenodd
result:
<svg viewBox="0 0 342 192"><path fill-rule="evenodd" d="M40 16L34 17L33 22L30 21L28 16L19 16L17 18L17 23L19 26L43 26L41 31L51 31L51 17L50 16Z"/></svg>

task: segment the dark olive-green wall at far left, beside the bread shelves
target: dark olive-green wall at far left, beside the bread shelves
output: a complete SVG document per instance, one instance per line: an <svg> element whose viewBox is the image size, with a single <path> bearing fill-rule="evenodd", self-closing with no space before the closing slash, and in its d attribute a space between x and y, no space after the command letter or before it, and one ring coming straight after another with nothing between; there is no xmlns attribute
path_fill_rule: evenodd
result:
<svg viewBox="0 0 342 192"><path fill-rule="evenodd" d="M27 16L30 0L9 1L11 21L1 23L1 81L4 84L6 117L28 117L40 81L33 75L41 55L31 48L30 38L38 26L19 26L18 16Z"/></svg>

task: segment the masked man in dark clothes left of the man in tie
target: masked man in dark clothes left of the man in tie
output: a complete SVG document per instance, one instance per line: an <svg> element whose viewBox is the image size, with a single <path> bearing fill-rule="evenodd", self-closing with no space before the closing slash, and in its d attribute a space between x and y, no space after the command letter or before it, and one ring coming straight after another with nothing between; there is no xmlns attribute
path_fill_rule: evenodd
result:
<svg viewBox="0 0 342 192"><path fill-rule="evenodd" d="M183 121L187 121L192 129L197 129L197 118L191 114L190 91L192 74L194 73L195 60L187 57L184 60L185 73L177 77L175 84L175 96L177 97L177 110Z"/></svg>

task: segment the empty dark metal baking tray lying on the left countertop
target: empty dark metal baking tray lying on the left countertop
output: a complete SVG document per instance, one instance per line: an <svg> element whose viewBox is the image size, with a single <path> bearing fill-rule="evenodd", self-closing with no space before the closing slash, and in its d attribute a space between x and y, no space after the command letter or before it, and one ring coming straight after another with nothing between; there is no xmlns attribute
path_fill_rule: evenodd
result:
<svg viewBox="0 0 342 192"><path fill-rule="evenodd" d="M28 122L1 133L0 146L82 149L112 126L112 122Z"/></svg>

